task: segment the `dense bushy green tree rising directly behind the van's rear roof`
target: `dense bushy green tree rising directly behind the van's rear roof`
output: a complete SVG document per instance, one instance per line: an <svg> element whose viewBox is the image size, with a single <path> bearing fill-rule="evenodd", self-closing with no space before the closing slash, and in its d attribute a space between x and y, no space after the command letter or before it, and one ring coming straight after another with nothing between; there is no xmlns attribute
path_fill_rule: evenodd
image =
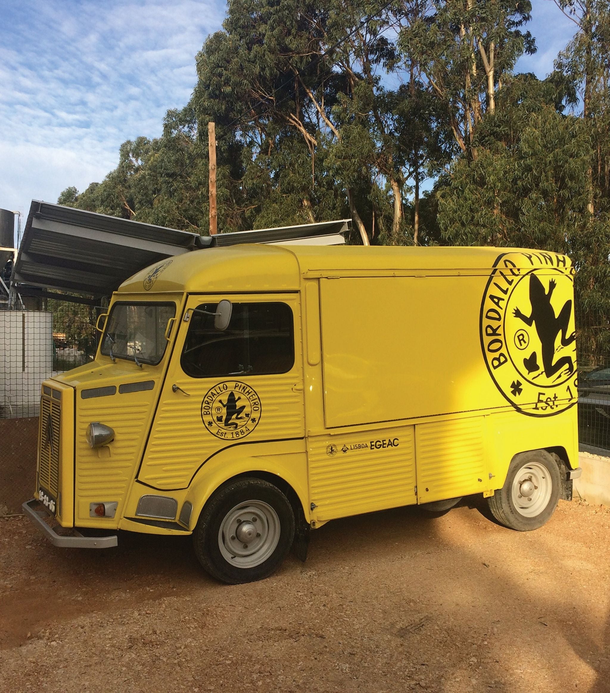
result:
<svg viewBox="0 0 610 693"><path fill-rule="evenodd" d="M478 129L475 161L458 157L439 186L439 225L458 245L573 254L586 232L590 140L581 119L555 108L555 86L519 75Z"/></svg>

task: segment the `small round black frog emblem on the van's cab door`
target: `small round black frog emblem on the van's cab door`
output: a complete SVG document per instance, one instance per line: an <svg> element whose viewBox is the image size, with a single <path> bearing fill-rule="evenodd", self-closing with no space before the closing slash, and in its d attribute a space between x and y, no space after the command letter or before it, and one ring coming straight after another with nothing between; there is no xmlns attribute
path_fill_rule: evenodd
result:
<svg viewBox="0 0 610 693"><path fill-rule="evenodd" d="M201 403L201 419L217 438L244 438L261 419L261 400L250 385L225 380L206 392Z"/></svg>

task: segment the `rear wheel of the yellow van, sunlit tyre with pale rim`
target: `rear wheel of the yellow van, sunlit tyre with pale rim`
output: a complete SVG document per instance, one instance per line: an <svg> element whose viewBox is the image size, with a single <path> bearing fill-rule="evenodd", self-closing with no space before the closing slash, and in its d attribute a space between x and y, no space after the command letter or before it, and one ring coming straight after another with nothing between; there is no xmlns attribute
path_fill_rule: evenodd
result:
<svg viewBox="0 0 610 693"><path fill-rule="evenodd" d="M517 489L523 488L519 486L519 482L526 482L530 477L536 482L537 475L542 484L550 484L550 487L544 486L546 491L541 493L539 489L543 487L542 484L534 486L534 492L530 496L532 500L525 495L518 500L520 496L517 495ZM530 450L513 457L504 486L488 498L487 502L491 514L500 524L518 532L529 532L542 527L550 519L557 507L560 493L561 475L554 457L546 450ZM521 506L516 504L514 495ZM528 506L530 502L534 505Z"/></svg>

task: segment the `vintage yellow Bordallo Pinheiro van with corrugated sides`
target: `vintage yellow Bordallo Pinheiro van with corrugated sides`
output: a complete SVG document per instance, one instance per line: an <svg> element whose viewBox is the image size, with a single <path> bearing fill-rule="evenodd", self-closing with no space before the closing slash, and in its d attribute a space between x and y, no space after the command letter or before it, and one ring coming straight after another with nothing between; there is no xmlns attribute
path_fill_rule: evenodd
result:
<svg viewBox="0 0 610 693"><path fill-rule="evenodd" d="M42 385L24 509L56 545L192 534L239 583L384 508L482 494L536 529L580 474L563 255L217 247L135 274L98 323L96 360Z"/></svg>

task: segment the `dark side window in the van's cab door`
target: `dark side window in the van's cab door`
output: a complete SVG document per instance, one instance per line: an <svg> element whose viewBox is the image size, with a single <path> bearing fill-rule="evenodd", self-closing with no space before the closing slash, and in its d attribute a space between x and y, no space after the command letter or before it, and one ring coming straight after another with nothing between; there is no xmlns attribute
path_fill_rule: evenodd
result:
<svg viewBox="0 0 610 693"><path fill-rule="evenodd" d="M286 373L295 362L293 311L284 303L233 304L229 327L214 328L218 304L200 304L191 314L182 370L192 378Z"/></svg>

